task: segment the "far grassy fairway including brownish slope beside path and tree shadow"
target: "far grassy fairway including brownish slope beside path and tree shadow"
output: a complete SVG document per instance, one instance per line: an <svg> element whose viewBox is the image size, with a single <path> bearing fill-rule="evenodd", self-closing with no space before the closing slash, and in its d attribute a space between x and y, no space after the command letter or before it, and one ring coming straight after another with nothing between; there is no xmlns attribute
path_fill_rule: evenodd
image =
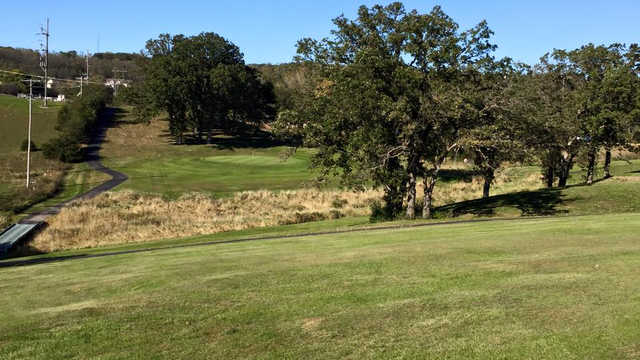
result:
<svg viewBox="0 0 640 360"><path fill-rule="evenodd" d="M162 120L134 124L121 112L101 152L105 165L129 176L119 189L171 197L193 191L229 195L298 189L313 180L309 150L286 158L286 147L225 137L217 137L213 145L173 145L166 127Z"/></svg>

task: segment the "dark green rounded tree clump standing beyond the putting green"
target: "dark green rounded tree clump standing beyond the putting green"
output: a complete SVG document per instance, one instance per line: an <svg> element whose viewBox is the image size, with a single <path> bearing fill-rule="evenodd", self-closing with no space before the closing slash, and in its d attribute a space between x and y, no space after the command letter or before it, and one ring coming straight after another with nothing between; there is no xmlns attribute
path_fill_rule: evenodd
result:
<svg viewBox="0 0 640 360"><path fill-rule="evenodd" d="M149 117L166 111L180 144L187 131L210 142L214 130L235 133L238 125L275 116L271 85L244 64L236 45L217 34L162 34L147 42L146 52L145 83L134 97L141 106L137 112Z"/></svg>

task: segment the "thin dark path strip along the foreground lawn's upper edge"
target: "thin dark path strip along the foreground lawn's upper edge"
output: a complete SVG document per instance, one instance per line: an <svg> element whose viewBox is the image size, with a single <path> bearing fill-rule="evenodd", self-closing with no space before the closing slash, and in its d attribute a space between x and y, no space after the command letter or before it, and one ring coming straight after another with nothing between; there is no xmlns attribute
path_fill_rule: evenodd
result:
<svg viewBox="0 0 640 360"><path fill-rule="evenodd" d="M527 217L527 218L499 218L499 219L475 219L475 220L461 220L461 221L443 221L443 222L438 222L438 223L422 223L422 224L409 224L409 225L388 225L388 226L379 226L379 227L371 227L371 228L336 230L336 231L321 231L321 232L290 234L290 235L272 235L272 236L261 236L261 237L244 238L244 239L217 240L217 241L213 240L213 241L204 241L204 242L198 242L198 243L193 243L193 244L159 246L159 247L151 247L151 248L145 248L145 249L110 251L110 252L104 252L104 253L99 253L99 254L78 254L78 255L67 255L67 256L58 256L58 257L49 257L49 258L38 258L38 259L30 259L30 260L4 261L4 262L0 262L0 268L15 267L15 266L27 266L27 265L38 265L38 264L46 264L46 263L53 263L53 262L62 262L62 261L67 261L67 260L92 259L92 258L101 258L101 257L107 257L107 256L137 254L137 253L160 251L160 250L183 249L183 248L190 248L190 247L197 247L197 246L235 244L235 243L242 243L242 242L249 242L249 241L305 238L305 237L313 237L313 236L334 235L334 234L348 234L348 233L366 232L366 231L402 230L402 229L412 229L412 228L439 226L439 225L474 224L474 223L499 222L499 221L503 222L503 221L513 221L513 220L521 220L521 221L528 221L528 220L531 220L531 221L558 220L558 219L566 219L566 218L578 218L578 217L584 217L584 216L589 216L589 215L572 215L572 216L562 216L562 217L531 216L531 217Z"/></svg>

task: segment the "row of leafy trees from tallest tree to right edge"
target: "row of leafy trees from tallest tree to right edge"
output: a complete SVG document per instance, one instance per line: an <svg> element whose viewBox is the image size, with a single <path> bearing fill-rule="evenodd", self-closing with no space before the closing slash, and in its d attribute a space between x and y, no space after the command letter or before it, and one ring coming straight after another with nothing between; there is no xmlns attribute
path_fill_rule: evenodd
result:
<svg viewBox="0 0 640 360"><path fill-rule="evenodd" d="M356 19L333 23L331 38L298 42L310 78L274 127L316 147L323 175L382 187L384 217L430 217L454 152L473 159L489 196L506 161L537 160L549 187L566 186L581 163L591 184L600 151L610 176L611 151L638 141L636 44L554 50L528 66L493 56L486 22L461 30L440 7L362 6Z"/></svg>

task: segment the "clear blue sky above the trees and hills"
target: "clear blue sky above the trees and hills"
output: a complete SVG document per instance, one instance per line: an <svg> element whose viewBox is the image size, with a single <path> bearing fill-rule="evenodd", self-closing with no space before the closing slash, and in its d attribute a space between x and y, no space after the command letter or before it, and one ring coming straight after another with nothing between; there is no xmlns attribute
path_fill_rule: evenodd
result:
<svg viewBox="0 0 640 360"><path fill-rule="evenodd" d="M160 33L216 32L233 41L248 63L291 61L302 37L321 38L331 19L353 18L359 5L389 1L351 0L113 0L10 1L0 12L0 46L38 48L35 33L51 19L50 48L56 51L138 52ZM439 4L461 28L486 19L495 32L497 56L535 63L553 48L588 42L640 42L638 0L404 1L429 11Z"/></svg>

